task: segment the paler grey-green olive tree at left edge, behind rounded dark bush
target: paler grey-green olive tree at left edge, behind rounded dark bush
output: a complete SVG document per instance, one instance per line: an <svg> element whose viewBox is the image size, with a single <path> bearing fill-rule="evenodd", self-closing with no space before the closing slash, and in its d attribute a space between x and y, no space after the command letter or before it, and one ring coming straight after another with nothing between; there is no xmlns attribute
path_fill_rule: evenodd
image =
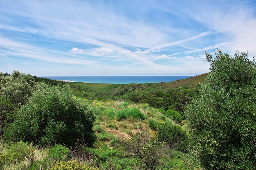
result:
<svg viewBox="0 0 256 170"><path fill-rule="evenodd" d="M35 84L29 74L18 71L11 75L0 73L0 136L14 121L18 108L27 103Z"/></svg>

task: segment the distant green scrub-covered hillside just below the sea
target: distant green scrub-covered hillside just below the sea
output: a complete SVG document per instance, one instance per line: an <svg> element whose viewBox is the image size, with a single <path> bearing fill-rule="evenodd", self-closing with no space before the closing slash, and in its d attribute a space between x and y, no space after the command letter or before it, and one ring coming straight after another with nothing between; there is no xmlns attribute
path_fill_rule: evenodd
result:
<svg viewBox="0 0 256 170"><path fill-rule="evenodd" d="M208 73L173 82L146 84L92 84L71 82L70 86L77 97L89 100L147 103L164 110L174 109L182 113L182 107L198 94L199 84Z"/></svg>

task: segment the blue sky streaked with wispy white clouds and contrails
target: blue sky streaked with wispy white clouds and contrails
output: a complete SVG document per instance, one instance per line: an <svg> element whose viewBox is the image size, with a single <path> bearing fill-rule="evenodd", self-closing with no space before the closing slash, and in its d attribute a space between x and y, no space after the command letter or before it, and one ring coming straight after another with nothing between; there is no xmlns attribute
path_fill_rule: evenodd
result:
<svg viewBox="0 0 256 170"><path fill-rule="evenodd" d="M199 75L205 53L256 56L255 0L1 0L0 72Z"/></svg>

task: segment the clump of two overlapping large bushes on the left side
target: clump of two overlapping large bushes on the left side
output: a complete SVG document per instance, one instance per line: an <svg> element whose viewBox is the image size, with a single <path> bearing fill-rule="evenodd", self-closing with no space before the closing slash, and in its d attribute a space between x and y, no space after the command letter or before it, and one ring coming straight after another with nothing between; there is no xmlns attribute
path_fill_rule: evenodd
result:
<svg viewBox="0 0 256 170"><path fill-rule="evenodd" d="M14 71L0 75L1 136L34 144L92 146L94 112L72 97L68 86L35 82L31 75Z"/></svg>

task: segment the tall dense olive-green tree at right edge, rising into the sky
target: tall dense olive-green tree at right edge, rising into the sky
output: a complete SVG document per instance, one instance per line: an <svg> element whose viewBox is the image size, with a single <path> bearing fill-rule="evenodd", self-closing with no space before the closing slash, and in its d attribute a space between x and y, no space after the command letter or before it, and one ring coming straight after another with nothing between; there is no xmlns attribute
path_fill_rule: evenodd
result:
<svg viewBox="0 0 256 170"><path fill-rule="evenodd" d="M185 109L195 154L207 170L256 167L256 62L206 53L208 77Z"/></svg>

